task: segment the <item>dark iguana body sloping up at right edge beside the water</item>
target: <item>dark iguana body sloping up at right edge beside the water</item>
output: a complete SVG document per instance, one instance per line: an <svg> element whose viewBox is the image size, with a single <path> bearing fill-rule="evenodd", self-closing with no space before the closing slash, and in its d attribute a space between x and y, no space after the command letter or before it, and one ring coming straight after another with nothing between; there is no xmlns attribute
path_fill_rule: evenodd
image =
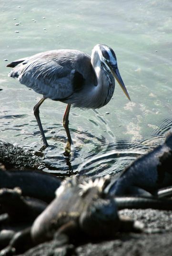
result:
<svg viewBox="0 0 172 256"><path fill-rule="evenodd" d="M162 145L132 162L118 178L112 178L106 192L114 196L156 195L158 189L169 185L172 185L172 134Z"/></svg>

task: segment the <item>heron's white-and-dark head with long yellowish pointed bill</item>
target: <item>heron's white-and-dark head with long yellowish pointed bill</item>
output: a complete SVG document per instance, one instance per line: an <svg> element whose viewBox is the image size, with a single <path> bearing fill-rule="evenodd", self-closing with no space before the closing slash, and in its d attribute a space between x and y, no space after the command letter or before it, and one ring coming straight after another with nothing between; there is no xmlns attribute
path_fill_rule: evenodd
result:
<svg viewBox="0 0 172 256"><path fill-rule="evenodd" d="M130 96L127 92L127 89L122 81L118 65L117 65L117 59L114 51L111 49L111 47L105 45L105 44L97 44L92 51L92 54L97 53L98 58L100 61L107 67L107 69L110 70L112 75L115 77L119 85L121 86L123 92L127 96L127 98L130 100ZM92 56L92 55L91 55Z"/></svg>

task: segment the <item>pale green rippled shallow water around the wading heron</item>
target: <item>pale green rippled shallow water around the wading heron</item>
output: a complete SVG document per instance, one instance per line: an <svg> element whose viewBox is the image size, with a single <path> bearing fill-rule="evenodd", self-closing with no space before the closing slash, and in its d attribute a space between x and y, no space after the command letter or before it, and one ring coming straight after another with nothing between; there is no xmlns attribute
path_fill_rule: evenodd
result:
<svg viewBox="0 0 172 256"><path fill-rule="evenodd" d="M164 141L172 128L171 0L1 0L0 17L0 139L34 150L42 146L32 111L41 96L8 77L7 63L60 48L91 54L95 44L105 43L117 55L132 101L116 83L101 109L71 108L76 155L69 162L63 154L66 105L47 99L40 107L51 146L44 160L55 172L103 176Z"/></svg>

